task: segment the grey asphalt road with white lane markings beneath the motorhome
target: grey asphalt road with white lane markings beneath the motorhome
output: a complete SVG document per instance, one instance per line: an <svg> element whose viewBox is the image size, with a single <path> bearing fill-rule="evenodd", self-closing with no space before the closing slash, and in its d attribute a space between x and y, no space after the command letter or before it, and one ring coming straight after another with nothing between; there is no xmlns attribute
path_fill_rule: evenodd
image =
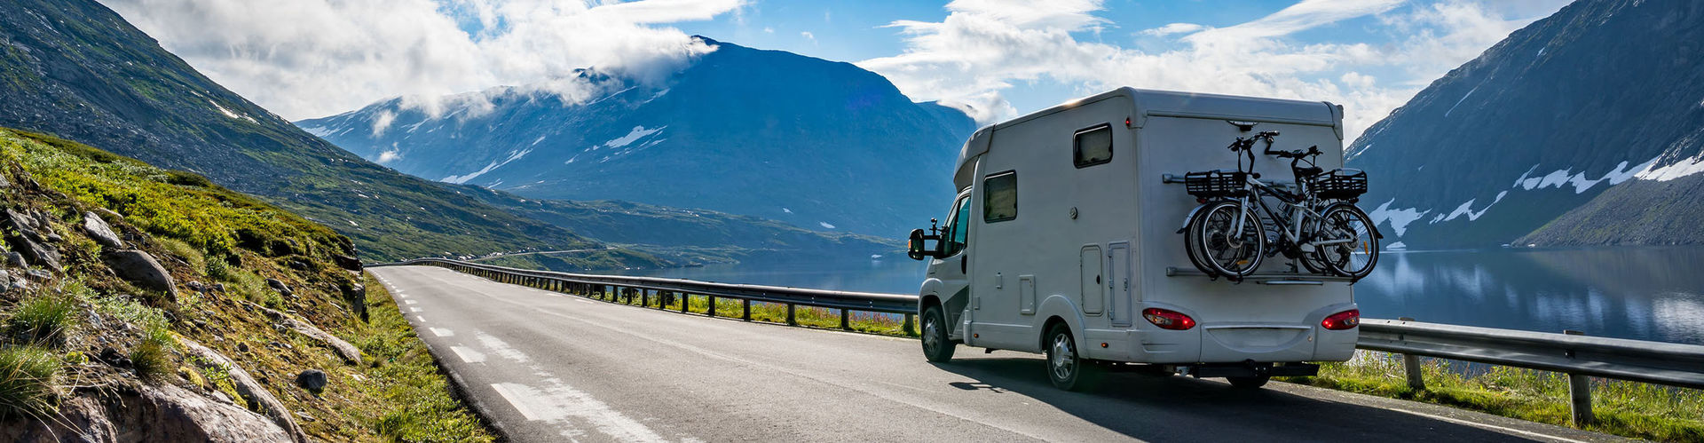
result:
<svg viewBox="0 0 1704 443"><path fill-rule="evenodd" d="M1290 383L1108 375L1062 392L1034 354L746 324L373 268L515 441L1614 441L1448 407Z"/></svg>

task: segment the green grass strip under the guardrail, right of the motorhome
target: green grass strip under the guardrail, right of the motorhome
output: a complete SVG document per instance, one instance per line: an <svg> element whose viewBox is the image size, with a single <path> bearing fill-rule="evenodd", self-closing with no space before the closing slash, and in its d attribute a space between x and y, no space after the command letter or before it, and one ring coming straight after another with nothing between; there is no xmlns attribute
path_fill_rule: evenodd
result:
<svg viewBox="0 0 1704 443"><path fill-rule="evenodd" d="M1401 356L1373 351L1358 351L1346 363L1324 363L1319 377L1287 382L1571 426L1568 377L1563 373L1423 361L1425 390L1408 387ZM1704 390L1592 378L1592 411L1597 423L1583 428L1588 431L1656 441L1704 441Z"/></svg>

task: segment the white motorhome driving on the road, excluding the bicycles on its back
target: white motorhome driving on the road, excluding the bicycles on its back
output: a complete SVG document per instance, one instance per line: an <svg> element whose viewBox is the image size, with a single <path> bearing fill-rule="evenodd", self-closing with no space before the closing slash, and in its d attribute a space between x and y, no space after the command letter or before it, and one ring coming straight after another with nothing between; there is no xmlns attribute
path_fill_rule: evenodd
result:
<svg viewBox="0 0 1704 443"><path fill-rule="evenodd" d="M939 235L913 232L912 256L929 259L927 358L947 361L956 344L1045 353L1062 388L1108 368L1259 387L1348 360L1360 315L1350 281L1268 259L1232 283L1184 252L1179 228L1198 201L1177 177L1234 167L1225 147L1256 126L1283 133L1273 148L1317 145L1319 167L1343 165L1343 107L1329 102L1126 87L978 129ZM1271 157L1256 172L1290 177Z"/></svg>

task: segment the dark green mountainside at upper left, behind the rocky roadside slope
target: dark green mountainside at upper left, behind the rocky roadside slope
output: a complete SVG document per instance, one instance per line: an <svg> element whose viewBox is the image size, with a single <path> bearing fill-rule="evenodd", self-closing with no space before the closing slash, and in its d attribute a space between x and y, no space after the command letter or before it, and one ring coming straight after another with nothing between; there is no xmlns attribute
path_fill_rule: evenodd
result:
<svg viewBox="0 0 1704 443"><path fill-rule="evenodd" d="M598 245L325 143L92 0L0 2L0 126L206 175L334 227L368 259Z"/></svg>

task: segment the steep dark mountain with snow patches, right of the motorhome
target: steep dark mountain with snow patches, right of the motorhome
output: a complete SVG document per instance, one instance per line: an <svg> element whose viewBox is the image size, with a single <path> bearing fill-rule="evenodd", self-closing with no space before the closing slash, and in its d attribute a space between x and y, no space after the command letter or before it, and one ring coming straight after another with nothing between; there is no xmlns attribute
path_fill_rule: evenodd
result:
<svg viewBox="0 0 1704 443"><path fill-rule="evenodd" d="M1701 244L1704 2L1574 2L1428 85L1348 157L1397 247Z"/></svg>

